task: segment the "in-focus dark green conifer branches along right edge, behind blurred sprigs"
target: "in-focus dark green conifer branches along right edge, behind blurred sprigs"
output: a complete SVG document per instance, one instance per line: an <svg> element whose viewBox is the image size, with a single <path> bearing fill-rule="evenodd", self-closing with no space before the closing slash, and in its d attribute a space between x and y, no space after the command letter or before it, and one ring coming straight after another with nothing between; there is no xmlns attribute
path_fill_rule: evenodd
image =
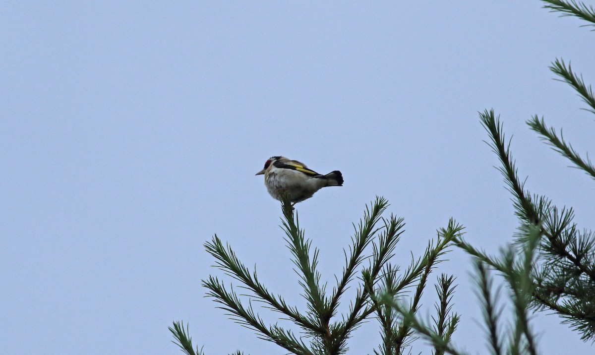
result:
<svg viewBox="0 0 595 355"><path fill-rule="evenodd" d="M593 7L576 1L544 0L544 7L563 15L576 16L595 26ZM558 76L557 80L568 83L587 104L586 111L595 114L595 96L590 85L585 84L583 76L572 71L563 59L555 59L550 70ZM580 230L572 222L572 208L558 208L545 196L531 194L519 179L515 162L511 157L509 144L506 143L502 124L494 111L480 114L481 122L490 136L490 145L500 159L500 172L505 178L514 201L516 216L519 219L519 233L515 241L522 252L522 247L530 228L537 228L539 236L538 265L531 273L531 301L539 310L552 310L565 319L564 323L581 333L583 340L595 340L595 235L591 230ZM595 167L588 159L583 159L565 141L562 131L548 127L543 118L535 115L527 121L531 130L536 131L541 140L553 150L569 159L572 164L595 178ZM459 240L458 245L478 257L498 271L503 272L502 260L494 259L475 249L471 244Z"/></svg>

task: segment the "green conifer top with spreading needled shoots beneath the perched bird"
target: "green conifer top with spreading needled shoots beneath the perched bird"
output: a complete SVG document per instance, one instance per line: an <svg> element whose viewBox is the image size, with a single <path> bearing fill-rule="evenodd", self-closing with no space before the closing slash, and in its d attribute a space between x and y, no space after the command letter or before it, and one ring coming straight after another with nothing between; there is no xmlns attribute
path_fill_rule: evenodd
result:
<svg viewBox="0 0 595 355"><path fill-rule="evenodd" d="M275 295L259 281L255 271L250 272L240 261L231 246L224 244L215 235L205 243L209 254L215 258L217 267L240 283L240 287L249 291L240 296L233 287L226 286L218 277L211 276L203 280L203 286L220 308L226 310L231 319L241 325L252 328L258 337L280 345L292 354L343 354L347 351L347 340L362 322L369 318L380 321L382 343L374 350L376 354L402 354L411 345L412 325L393 312L375 296L392 294L400 300L409 300L407 312L415 313L421 306L422 291L428 282L428 276L447 246L459 235L462 227L450 221L448 227L439 231L435 243L430 242L423 256L412 260L405 271L391 263L394 248L403 233L402 218L390 215L383 217L388 202L382 197L371 203L364 212L364 218L355 227L352 244L345 250L343 271L336 275L337 283L332 290L327 290L321 282L322 275L317 269L319 252L312 247L312 240L305 237L299 227L297 213L289 201L284 201L283 230L285 240L299 275L299 282L308 304L307 309L299 310L287 304L283 297ZM359 281L355 298L350 300L349 311L339 315L339 303L346 295L350 284ZM353 287L353 285L351 285ZM414 288L413 296L405 296L405 290ZM455 331L458 316L450 312L450 298L454 285L453 277L442 275L436 285L439 303L436 306L434 327L440 333L450 337ZM257 300L266 304L266 308L281 313L281 319L293 322L292 328L283 328L278 323L266 324L253 309L250 301ZM296 330L297 329L297 330ZM183 323L174 322L170 328L184 353L202 354L202 350L193 347L188 335L188 328ZM374 344L370 344L374 348ZM239 354L238 352L237 354Z"/></svg>

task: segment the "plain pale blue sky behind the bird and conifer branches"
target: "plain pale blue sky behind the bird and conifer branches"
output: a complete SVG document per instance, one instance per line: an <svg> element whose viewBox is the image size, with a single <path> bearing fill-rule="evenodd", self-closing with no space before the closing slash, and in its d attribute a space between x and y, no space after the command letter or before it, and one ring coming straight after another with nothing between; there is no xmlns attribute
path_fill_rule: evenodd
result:
<svg viewBox="0 0 595 355"><path fill-rule="evenodd" d="M303 306L279 205L254 176L273 155L343 172L297 205L330 282L377 194L405 218L397 263L451 216L496 252L516 220L486 108L528 189L593 228L592 181L524 124L544 115L593 152L593 115L547 68L562 57L595 82L581 24L540 1L2 2L0 353L176 354L167 327L183 320L206 354L284 354L200 281L221 276L202 247L217 233ZM456 344L481 353L471 260L448 258ZM559 322L533 322L544 354L592 352ZM374 321L355 334L353 354L379 342Z"/></svg>

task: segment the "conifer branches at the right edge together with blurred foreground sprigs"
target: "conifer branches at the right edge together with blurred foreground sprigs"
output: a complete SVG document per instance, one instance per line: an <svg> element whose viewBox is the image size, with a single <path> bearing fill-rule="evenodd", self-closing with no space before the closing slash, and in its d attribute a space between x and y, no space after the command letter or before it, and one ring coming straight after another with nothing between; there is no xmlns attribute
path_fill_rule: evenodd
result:
<svg viewBox="0 0 595 355"><path fill-rule="evenodd" d="M577 1L550 1L545 8L575 16L595 26L595 10ZM587 103L587 111L595 114L595 96L591 86L583 77L572 71L562 59L556 59L550 69L560 81L568 83ZM466 242L462 237L454 243L474 256L478 275L478 294L483 309L491 354L537 354L537 345L531 331L529 312L531 309L551 310L562 316L563 323L571 324L585 341L595 340L595 235L593 231L580 231L572 222L572 208L558 208L547 197L531 194L518 177L515 162L506 143L502 124L493 110L480 113L481 123L490 137L490 146L498 156L500 172L505 178L508 190L513 195L516 216L519 219L518 233L514 243L500 251L497 256L487 255ZM595 168L589 159L583 159L567 143L562 132L547 127L543 118L537 116L527 121L531 130L553 150L569 159L573 165L595 178ZM502 326L499 315L502 310L502 292L494 290L491 271L503 275L508 286L513 306L512 326ZM421 337L427 339L443 353L461 354L449 343L449 338L431 331L427 322L395 300L390 293L376 294L375 299L383 301L403 316ZM508 329L508 331L506 331Z"/></svg>

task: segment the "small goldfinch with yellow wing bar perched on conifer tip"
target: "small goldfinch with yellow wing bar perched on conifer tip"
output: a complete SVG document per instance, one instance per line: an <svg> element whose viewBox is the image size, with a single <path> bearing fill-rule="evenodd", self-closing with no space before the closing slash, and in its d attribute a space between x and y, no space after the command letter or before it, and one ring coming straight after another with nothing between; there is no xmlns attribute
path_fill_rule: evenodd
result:
<svg viewBox="0 0 595 355"><path fill-rule="evenodd" d="M308 169L305 164L284 156L271 156L265 162L264 169L256 173L263 174L268 193L280 201L286 197L292 202L292 206L309 199L322 187L343 186L343 175L340 171L321 175Z"/></svg>

